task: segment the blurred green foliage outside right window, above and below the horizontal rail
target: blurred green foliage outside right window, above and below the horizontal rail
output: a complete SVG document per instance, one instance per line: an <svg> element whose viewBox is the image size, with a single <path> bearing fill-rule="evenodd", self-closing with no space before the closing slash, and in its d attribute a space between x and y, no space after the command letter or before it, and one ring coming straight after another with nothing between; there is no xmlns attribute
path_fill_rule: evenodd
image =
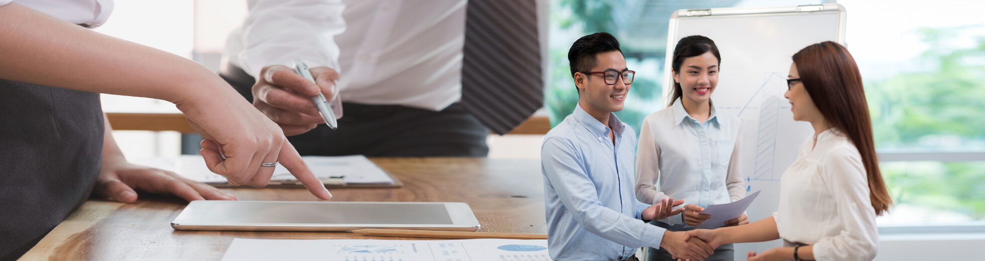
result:
<svg viewBox="0 0 985 261"><path fill-rule="evenodd" d="M931 48L912 63L929 70L865 82L878 148L985 149L985 35L955 46L975 27L920 28ZM897 204L985 220L985 162L887 162L882 171Z"/></svg>

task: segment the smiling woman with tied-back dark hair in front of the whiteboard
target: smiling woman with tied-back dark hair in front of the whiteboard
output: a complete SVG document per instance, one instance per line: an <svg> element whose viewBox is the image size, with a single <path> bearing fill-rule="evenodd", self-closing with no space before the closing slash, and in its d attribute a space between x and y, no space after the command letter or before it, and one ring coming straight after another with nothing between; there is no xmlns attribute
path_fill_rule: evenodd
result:
<svg viewBox="0 0 985 261"><path fill-rule="evenodd" d="M742 121L711 106L721 61L708 37L690 35L674 48L674 99L668 108L643 119L636 158L636 198L647 204L678 198L681 215L653 221L669 231L684 231L710 218L698 214L713 204L746 196L738 164ZM749 224L746 215L725 226ZM664 249L648 248L647 260L674 260ZM732 244L715 249L706 260L733 260Z"/></svg>

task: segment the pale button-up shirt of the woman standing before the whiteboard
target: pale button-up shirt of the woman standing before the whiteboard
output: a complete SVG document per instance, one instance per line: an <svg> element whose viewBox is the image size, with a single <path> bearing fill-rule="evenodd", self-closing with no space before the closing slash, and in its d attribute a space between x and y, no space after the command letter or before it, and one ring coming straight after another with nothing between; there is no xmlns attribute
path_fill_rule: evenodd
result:
<svg viewBox="0 0 985 261"><path fill-rule="evenodd" d="M711 117L698 123L681 99L644 118L636 152L636 199L655 204L673 197L703 208L745 197L740 129L742 120L714 106ZM681 215L660 221L684 224Z"/></svg>

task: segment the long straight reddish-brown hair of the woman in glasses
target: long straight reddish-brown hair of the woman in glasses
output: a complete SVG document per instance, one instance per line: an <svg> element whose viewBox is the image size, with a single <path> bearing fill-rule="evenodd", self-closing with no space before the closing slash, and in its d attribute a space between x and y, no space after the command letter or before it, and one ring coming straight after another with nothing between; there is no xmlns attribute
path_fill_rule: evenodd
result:
<svg viewBox="0 0 985 261"><path fill-rule="evenodd" d="M805 47L793 58L801 82L824 120L848 135L862 155L869 180L869 199L876 214L882 215L892 205L892 198L879 171L869 104L855 59L848 49L832 41Z"/></svg>

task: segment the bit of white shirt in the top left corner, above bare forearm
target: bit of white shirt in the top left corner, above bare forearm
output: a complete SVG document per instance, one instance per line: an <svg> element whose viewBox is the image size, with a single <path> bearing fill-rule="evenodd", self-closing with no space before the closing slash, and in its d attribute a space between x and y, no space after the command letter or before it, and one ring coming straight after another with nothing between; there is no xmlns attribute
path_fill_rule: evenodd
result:
<svg viewBox="0 0 985 261"><path fill-rule="evenodd" d="M11 2L68 23L91 28L105 24L113 13L113 0L0 0L0 6Z"/></svg>

